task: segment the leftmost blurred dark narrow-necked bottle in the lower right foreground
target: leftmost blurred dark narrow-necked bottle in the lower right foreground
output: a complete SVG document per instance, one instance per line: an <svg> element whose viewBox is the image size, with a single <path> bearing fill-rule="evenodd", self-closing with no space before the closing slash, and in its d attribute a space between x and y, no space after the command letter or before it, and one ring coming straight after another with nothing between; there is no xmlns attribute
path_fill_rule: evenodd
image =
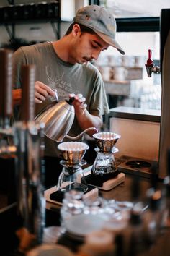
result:
<svg viewBox="0 0 170 256"><path fill-rule="evenodd" d="M121 256L135 256L143 253L143 209L141 200L141 185L138 176L133 177L130 186L130 195L133 206L128 213L128 223L116 238L117 253Z"/></svg>

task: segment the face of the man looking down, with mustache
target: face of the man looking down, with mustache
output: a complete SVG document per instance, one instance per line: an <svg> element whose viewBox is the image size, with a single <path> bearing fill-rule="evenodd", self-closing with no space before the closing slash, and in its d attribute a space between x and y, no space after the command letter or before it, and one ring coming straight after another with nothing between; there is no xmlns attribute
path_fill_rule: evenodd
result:
<svg viewBox="0 0 170 256"><path fill-rule="evenodd" d="M98 59L100 52L108 47L109 44L104 42L99 35L79 32L73 41L71 63L84 64L87 61Z"/></svg>

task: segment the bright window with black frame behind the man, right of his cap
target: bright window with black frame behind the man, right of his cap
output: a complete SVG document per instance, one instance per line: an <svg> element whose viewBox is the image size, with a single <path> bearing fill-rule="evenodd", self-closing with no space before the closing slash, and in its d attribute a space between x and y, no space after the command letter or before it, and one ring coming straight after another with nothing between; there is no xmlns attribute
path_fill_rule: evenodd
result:
<svg viewBox="0 0 170 256"><path fill-rule="evenodd" d="M126 55L109 47L97 61L104 77L109 107L133 106L161 109L161 74L147 76L148 49L159 66L160 60L160 13L170 7L164 1L105 1L117 21L116 40ZM117 68L119 67L119 68ZM119 74L116 74L118 72ZM123 74L120 74L120 73ZM118 79L120 76L120 80Z"/></svg>

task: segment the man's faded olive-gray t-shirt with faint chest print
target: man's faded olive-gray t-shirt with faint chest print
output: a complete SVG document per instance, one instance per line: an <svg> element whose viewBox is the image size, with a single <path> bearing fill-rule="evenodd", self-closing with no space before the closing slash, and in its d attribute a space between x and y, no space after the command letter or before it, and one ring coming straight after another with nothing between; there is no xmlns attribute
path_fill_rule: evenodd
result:
<svg viewBox="0 0 170 256"><path fill-rule="evenodd" d="M86 98L87 110L90 114L102 116L109 113L104 83L97 67L90 62L86 64L70 64L61 60L55 53L52 43L37 43L19 48L13 54L14 88L21 88L20 68L22 64L35 64L36 81L57 89L58 100L68 99L70 93L81 93ZM51 103L46 99L35 105L35 116ZM75 119L68 135L77 136L82 132ZM57 142L45 137L45 155L58 155Z"/></svg>

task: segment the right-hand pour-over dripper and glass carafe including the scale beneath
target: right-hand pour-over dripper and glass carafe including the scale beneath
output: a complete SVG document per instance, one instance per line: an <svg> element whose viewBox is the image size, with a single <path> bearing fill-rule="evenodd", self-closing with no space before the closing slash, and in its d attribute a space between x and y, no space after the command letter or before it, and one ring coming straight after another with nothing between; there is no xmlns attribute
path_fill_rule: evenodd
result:
<svg viewBox="0 0 170 256"><path fill-rule="evenodd" d="M117 169L115 153L119 150L115 147L120 135L114 132L99 132L93 135L96 140L97 157L91 168L91 174L86 176L86 182L99 189L110 190L125 180L125 174Z"/></svg>

